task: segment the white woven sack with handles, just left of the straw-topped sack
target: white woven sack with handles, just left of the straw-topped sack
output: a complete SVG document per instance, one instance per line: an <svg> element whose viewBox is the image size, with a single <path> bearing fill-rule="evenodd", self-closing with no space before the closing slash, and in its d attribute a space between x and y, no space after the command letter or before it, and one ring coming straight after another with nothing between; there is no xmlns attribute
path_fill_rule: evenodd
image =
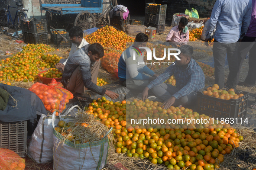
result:
<svg viewBox="0 0 256 170"><path fill-rule="evenodd" d="M64 112L61 118L65 121L71 120L75 116L73 106L67 112ZM71 116L67 116L67 115ZM32 135L28 146L28 156L36 163L44 164L53 160L53 139L52 139L52 123L58 124L59 117L52 117L52 115L42 115L39 119L38 125Z"/></svg>

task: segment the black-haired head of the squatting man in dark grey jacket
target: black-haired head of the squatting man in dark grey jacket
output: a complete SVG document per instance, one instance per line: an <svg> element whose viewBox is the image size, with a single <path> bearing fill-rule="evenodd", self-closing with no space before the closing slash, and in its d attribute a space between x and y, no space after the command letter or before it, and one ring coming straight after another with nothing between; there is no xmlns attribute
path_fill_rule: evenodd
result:
<svg viewBox="0 0 256 170"><path fill-rule="evenodd" d="M99 61L104 56L104 48L99 43L91 44L88 47L88 56L91 61Z"/></svg>

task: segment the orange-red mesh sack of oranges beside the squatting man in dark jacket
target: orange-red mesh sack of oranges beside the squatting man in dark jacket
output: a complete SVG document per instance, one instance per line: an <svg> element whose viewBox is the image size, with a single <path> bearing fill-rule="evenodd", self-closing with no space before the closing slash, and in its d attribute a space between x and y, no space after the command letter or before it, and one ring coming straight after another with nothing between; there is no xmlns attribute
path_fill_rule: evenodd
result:
<svg viewBox="0 0 256 170"><path fill-rule="evenodd" d="M44 103L45 109L52 113L55 110L61 113L66 108L66 103L69 102L69 99L73 99L73 94L62 88L62 83L57 82L55 79L52 79L48 86L42 83L35 83L29 90L36 93Z"/></svg>

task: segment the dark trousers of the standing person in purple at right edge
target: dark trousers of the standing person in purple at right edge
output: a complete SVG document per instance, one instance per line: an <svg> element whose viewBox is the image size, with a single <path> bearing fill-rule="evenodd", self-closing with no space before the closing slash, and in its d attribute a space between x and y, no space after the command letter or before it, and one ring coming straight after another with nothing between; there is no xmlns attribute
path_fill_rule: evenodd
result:
<svg viewBox="0 0 256 170"><path fill-rule="evenodd" d="M256 37L244 36L242 43L239 46L239 50L237 52L237 64L239 66L238 74L236 77L237 83L243 60L245 59L248 52L250 52L249 71L244 82L246 84L253 85L256 82Z"/></svg>

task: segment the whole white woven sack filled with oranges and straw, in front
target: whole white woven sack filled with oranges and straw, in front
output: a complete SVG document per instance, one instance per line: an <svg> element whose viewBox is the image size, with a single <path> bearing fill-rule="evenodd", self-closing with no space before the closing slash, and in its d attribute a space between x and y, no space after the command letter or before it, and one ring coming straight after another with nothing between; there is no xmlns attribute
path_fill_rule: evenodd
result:
<svg viewBox="0 0 256 170"><path fill-rule="evenodd" d="M81 110L74 119L53 126L54 170L101 170L105 166L107 135L113 128L108 130L93 114Z"/></svg>

